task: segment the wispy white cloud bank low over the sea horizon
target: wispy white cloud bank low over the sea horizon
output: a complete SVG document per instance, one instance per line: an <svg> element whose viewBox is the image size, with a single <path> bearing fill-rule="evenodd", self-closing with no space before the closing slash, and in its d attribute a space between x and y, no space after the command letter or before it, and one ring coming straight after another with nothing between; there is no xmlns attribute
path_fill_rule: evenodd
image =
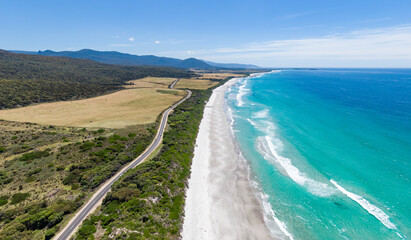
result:
<svg viewBox="0 0 411 240"><path fill-rule="evenodd" d="M196 53L202 58L264 66L332 67L330 64L334 64L334 67L346 67L351 63L351 67L411 67L411 25L318 38L273 40Z"/></svg>

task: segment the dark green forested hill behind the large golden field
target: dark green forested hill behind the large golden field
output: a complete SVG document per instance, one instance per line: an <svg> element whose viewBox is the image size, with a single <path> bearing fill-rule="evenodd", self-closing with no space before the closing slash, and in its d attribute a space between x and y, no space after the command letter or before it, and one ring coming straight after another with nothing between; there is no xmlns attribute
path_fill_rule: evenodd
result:
<svg viewBox="0 0 411 240"><path fill-rule="evenodd" d="M121 88L128 80L147 76L192 75L168 67L109 65L0 50L0 109L97 96Z"/></svg>

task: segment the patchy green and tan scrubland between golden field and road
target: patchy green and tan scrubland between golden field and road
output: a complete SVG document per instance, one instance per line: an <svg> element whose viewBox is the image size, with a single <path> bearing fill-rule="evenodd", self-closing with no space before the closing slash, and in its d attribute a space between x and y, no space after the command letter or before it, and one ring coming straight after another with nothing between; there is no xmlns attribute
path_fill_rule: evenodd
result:
<svg viewBox="0 0 411 240"><path fill-rule="evenodd" d="M156 125L87 130L0 120L0 239L50 239L144 151Z"/></svg>

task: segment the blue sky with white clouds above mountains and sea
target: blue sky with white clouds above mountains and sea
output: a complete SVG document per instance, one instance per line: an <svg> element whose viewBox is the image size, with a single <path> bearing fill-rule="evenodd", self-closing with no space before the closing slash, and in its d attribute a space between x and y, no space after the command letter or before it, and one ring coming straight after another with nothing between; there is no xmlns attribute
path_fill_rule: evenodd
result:
<svg viewBox="0 0 411 240"><path fill-rule="evenodd" d="M411 0L0 0L0 49L411 68Z"/></svg>

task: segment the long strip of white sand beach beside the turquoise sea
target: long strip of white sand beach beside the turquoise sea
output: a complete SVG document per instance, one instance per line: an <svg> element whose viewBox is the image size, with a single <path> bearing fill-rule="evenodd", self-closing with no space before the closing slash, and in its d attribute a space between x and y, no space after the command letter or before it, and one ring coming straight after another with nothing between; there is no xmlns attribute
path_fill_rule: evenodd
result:
<svg viewBox="0 0 411 240"><path fill-rule="evenodd" d="M183 239L273 238L224 112L225 92L235 81L215 89L204 110L187 190Z"/></svg>

